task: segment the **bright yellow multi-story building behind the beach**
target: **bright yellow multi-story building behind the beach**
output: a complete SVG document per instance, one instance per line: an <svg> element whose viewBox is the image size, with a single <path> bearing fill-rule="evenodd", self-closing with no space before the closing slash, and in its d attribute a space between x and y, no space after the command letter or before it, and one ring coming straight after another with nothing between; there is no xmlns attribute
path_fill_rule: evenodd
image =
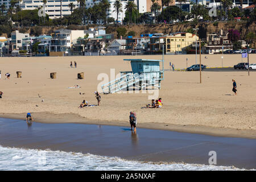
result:
<svg viewBox="0 0 256 182"><path fill-rule="evenodd" d="M175 32L166 36L166 53L185 53L185 48L192 46L193 42L199 40L195 34L188 32Z"/></svg>

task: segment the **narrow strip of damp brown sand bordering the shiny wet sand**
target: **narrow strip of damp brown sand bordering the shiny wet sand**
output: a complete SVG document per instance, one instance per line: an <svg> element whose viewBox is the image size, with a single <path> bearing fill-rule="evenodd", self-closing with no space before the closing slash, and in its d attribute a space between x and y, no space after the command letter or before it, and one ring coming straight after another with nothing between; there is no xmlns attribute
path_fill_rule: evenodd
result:
<svg viewBox="0 0 256 182"><path fill-rule="evenodd" d="M85 117L81 117L79 114L72 114L72 113L53 114L50 112L38 112L38 113L31 112L31 114L32 114L32 117L35 118L35 122L40 122L40 123L82 123L82 124L88 124L88 125L125 126L130 128L130 124L128 121L121 122L121 121L92 120ZM19 113L19 114L0 113L0 117L24 120L26 118L26 113ZM138 122L137 128L176 131L180 133L203 134L203 135L210 135L214 137L256 139L256 133L254 130L232 129L232 128L224 128L224 127L210 127L210 126L204 126L204 125L174 125L170 123L152 123L152 122L139 123Z"/></svg>

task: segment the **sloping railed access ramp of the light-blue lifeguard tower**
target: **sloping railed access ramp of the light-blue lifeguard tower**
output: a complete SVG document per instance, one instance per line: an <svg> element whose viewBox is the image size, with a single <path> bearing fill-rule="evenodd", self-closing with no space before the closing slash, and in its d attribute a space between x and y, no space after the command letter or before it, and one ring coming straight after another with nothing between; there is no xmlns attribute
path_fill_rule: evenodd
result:
<svg viewBox="0 0 256 182"><path fill-rule="evenodd" d="M119 90L129 88L129 86L136 84L139 81L138 73L126 72L127 74L122 75L115 80L112 80L104 85L101 85L103 93L115 93Z"/></svg>

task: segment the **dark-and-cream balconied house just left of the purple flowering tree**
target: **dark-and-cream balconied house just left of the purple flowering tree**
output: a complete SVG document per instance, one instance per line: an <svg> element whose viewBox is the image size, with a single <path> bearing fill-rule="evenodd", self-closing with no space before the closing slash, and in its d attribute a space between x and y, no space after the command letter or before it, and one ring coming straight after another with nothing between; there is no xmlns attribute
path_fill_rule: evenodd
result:
<svg viewBox="0 0 256 182"><path fill-rule="evenodd" d="M213 32L207 34L207 45L205 46L205 52L209 54L219 53L220 51L226 51L233 48L231 40L228 38L228 31Z"/></svg>

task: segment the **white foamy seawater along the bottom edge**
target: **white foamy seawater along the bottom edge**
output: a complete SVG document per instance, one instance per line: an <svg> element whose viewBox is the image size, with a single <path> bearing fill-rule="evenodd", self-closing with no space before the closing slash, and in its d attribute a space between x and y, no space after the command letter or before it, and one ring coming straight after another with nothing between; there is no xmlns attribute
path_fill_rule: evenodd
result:
<svg viewBox="0 0 256 182"><path fill-rule="evenodd" d="M184 163L144 163L75 152L0 146L0 170L243 170Z"/></svg>

